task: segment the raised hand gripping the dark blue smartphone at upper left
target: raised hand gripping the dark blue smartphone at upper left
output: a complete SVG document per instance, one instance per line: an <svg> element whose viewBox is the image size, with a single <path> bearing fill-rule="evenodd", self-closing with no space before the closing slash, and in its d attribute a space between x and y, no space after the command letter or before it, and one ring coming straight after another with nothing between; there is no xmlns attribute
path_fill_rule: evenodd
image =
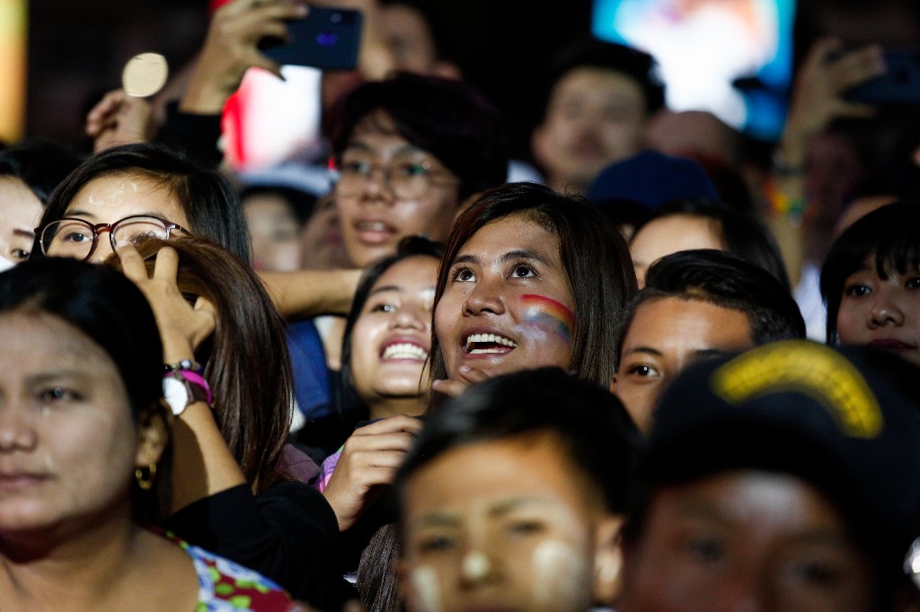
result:
<svg viewBox="0 0 920 612"><path fill-rule="evenodd" d="M214 11L179 110L220 113L252 67L283 78L281 66L259 52L259 41L286 39L285 19L305 17L307 11L305 4L287 0L232 0Z"/></svg>

